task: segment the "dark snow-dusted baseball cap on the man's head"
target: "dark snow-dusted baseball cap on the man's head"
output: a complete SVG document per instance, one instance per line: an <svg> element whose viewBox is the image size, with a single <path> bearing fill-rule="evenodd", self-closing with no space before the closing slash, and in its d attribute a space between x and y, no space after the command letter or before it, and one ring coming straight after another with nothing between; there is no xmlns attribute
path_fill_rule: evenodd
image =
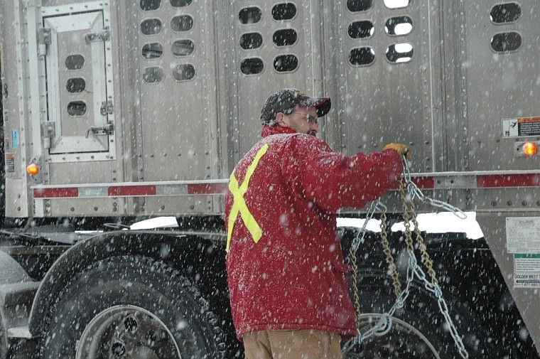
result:
<svg viewBox="0 0 540 359"><path fill-rule="evenodd" d="M276 114L291 109L294 106L314 106L317 117L324 116L330 111L330 97L309 97L300 90L286 88L271 94L261 109L261 124L272 125Z"/></svg>

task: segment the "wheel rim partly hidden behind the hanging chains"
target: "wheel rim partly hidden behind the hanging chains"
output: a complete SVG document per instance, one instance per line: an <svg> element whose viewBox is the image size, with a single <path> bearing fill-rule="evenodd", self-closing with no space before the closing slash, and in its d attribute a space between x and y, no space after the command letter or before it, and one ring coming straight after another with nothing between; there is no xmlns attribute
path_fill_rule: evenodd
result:
<svg viewBox="0 0 540 359"><path fill-rule="evenodd" d="M360 315L360 333L366 333L375 326L381 314L368 313ZM356 352L355 352L356 350ZM362 350L360 352L360 350ZM360 353L358 353L360 352ZM433 344L418 329L406 321L392 317L392 328L382 336L371 336L362 343L362 348L352 348L344 358L425 358L441 359Z"/></svg>

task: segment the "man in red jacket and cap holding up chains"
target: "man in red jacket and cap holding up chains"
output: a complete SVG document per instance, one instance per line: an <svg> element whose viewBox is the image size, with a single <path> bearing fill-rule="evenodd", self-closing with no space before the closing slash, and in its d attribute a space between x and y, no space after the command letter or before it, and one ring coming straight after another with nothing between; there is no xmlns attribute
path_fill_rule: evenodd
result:
<svg viewBox="0 0 540 359"><path fill-rule="evenodd" d="M247 359L342 358L356 335L336 211L395 188L406 146L339 154L315 137L330 98L284 89L261 110L262 139L225 199L232 318Z"/></svg>

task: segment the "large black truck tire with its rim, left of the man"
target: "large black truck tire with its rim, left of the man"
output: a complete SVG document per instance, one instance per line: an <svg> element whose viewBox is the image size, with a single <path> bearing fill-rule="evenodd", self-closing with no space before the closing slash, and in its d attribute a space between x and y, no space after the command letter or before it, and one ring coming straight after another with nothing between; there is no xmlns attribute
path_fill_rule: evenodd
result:
<svg viewBox="0 0 540 359"><path fill-rule="evenodd" d="M223 358L218 321L198 290L163 262L104 259L65 286L41 358Z"/></svg>

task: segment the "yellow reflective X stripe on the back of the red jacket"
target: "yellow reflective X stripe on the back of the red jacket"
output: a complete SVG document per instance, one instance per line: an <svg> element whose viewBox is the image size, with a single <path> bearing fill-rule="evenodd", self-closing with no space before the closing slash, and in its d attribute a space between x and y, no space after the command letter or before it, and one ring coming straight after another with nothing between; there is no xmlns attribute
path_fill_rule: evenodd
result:
<svg viewBox="0 0 540 359"><path fill-rule="evenodd" d="M257 164L259 164L259 160L261 159L261 157L266 154L266 150L268 150L268 144L265 144L264 146L262 146L261 149L259 149L259 152L257 152L257 154L255 155L252 164L250 164L247 168L246 176L244 177L244 181L242 181L242 184L240 186L238 186L238 181L236 177L234 177L234 171L232 171L231 173L231 176L229 178L229 191L231 191L234 197L234 201L232 203L231 212L229 213L229 220L227 222L227 247L225 247L225 252L229 252L232 227L234 227L234 223L237 220L238 213L240 213L240 218L242 218L242 220L244 221L244 225L246 226L247 230L249 230L249 233L251 233L255 243L259 242L262 237L261 227L259 227L259 224L257 223L257 220L255 220L255 218L253 217L252 213L249 212L249 209L246 205L246 200L244 200L244 194L247 192L249 178L252 178L252 174L254 173L255 168L257 167Z"/></svg>

